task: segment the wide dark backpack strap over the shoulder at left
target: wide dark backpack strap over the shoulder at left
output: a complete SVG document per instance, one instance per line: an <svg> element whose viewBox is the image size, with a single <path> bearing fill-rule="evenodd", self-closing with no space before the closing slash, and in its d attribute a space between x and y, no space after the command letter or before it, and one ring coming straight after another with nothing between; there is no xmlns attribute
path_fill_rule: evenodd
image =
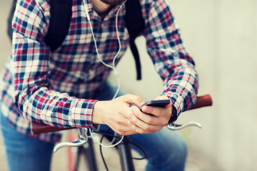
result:
<svg viewBox="0 0 257 171"><path fill-rule="evenodd" d="M50 46L51 51L56 50L63 43L71 23L72 1L51 0L50 24L44 42Z"/></svg>

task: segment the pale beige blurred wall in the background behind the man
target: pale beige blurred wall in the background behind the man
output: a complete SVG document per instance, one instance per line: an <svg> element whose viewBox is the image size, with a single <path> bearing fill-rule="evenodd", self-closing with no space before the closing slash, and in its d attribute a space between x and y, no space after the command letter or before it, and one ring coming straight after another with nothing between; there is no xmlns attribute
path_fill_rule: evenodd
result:
<svg viewBox="0 0 257 171"><path fill-rule="evenodd" d="M177 123L195 120L203 126L181 130L189 149L186 170L257 170L257 1L166 1L196 62L198 95L210 93L213 97L213 107L182 113L178 118ZM0 0L1 68L11 53L6 35L10 4L11 0ZM146 53L145 40L138 38L136 43L143 79L136 81L134 61L128 51L117 66L121 88L151 100L163 86ZM53 167L66 170L66 159L59 157L61 154L54 154ZM0 170L6 170L2 140L0 158Z"/></svg>

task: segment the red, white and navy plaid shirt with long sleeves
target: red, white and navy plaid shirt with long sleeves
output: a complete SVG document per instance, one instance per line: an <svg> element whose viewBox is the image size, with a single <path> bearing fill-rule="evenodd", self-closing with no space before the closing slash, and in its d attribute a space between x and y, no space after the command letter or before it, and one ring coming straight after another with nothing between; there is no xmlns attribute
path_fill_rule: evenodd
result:
<svg viewBox="0 0 257 171"><path fill-rule="evenodd" d="M118 6L101 19L86 1L101 59L111 64L119 45L115 18ZM193 59L184 48L178 26L165 0L141 0L148 54L163 79L163 95L176 115L196 101L198 86ZM96 57L84 3L74 0L64 42L51 52L44 43L50 19L49 0L18 1L13 19L12 54L1 74L0 109L21 133L59 141L60 133L31 135L29 121L69 128L92 128L94 95L111 72ZM129 46L125 8L119 12L121 53Z"/></svg>

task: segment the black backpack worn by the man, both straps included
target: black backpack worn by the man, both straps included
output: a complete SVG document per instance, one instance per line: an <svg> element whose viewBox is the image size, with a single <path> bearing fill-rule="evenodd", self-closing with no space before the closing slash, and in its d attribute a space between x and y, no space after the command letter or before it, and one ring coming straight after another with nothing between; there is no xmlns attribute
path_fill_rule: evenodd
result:
<svg viewBox="0 0 257 171"><path fill-rule="evenodd" d="M8 35L11 39L12 28L11 20L14 16L16 1L13 0L11 11L8 18ZM51 0L51 18L49 24L49 31L46 34L44 42L50 46L51 51L56 50L64 41L66 34L69 31L69 24L71 22L71 6L72 0ZM139 0L126 1L126 28L130 36L130 48L136 62L137 80L141 80L141 63L139 59L138 50L136 48L135 39L145 28L145 23L142 16L141 4Z"/></svg>

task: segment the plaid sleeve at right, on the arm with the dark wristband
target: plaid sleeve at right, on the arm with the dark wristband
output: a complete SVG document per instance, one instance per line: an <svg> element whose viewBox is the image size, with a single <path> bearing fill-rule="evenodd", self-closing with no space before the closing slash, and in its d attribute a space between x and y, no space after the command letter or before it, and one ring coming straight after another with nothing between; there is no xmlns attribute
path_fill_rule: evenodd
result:
<svg viewBox="0 0 257 171"><path fill-rule="evenodd" d="M166 1L149 0L148 6L148 10L143 11L147 49L163 79L163 95L167 95L173 103L176 120L196 101L198 74L193 59L183 46L179 28Z"/></svg>

